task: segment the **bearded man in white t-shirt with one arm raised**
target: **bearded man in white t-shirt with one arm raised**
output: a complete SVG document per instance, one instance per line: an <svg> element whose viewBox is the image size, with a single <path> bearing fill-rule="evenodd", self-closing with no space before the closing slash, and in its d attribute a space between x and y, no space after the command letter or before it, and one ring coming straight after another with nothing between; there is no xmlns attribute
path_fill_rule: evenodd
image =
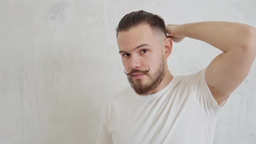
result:
<svg viewBox="0 0 256 144"><path fill-rule="evenodd" d="M256 57L256 29L227 22L165 26L141 10L125 15L116 31L131 87L103 106L97 144L212 144L218 111ZM223 53L197 73L173 76L172 41L185 37Z"/></svg>

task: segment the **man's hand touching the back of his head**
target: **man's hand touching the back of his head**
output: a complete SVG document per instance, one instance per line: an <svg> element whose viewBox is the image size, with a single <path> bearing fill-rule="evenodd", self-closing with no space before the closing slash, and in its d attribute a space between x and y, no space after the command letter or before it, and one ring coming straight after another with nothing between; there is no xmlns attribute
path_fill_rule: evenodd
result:
<svg viewBox="0 0 256 144"><path fill-rule="evenodd" d="M175 43L181 42L185 38L185 36L178 33L178 26L179 25L173 25L173 24L167 24L166 31L167 31L167 37L170 38Z"/></svg>

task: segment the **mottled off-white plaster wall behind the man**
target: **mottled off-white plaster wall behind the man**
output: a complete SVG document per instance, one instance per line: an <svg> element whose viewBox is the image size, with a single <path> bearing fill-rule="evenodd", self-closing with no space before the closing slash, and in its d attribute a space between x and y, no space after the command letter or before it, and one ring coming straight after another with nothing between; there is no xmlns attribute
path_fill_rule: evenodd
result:
<svg viewBox="0 0 256 144"><path fill-rule="evenodd" d="M1 0L0 144L94 144L103 102L129 85L115 27L137 10L170 24L256 27L255 0ZM197 72L218 54L186 38L174 43L169 69ZM221 111L214 144L256 144L255 122L254 62Z"/></svg>

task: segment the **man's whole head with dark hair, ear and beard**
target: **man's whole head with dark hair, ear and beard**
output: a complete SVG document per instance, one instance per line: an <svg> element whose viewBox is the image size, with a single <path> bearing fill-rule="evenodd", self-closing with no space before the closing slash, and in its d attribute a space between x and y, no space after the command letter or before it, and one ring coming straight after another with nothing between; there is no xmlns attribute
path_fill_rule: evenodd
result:
<svg viewBox="0 0 256 144"><path fill-rule="evenodd" d="M128 81L139 95L154 91L166 75L172 42L164 20L145 11L125 15L116 29Z"/></svg>

